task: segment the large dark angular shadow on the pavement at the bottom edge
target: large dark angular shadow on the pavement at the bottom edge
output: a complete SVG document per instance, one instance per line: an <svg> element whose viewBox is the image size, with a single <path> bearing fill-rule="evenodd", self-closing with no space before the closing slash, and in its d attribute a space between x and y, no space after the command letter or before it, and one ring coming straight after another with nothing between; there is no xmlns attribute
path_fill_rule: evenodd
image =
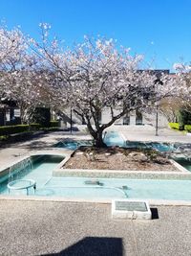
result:
<svg viewBox="0 0 191 256"><path fill-rule="evenodd" d="M86 237L76 244L57 253L41 254L42 256L122 256L121 238Z"/></svg>

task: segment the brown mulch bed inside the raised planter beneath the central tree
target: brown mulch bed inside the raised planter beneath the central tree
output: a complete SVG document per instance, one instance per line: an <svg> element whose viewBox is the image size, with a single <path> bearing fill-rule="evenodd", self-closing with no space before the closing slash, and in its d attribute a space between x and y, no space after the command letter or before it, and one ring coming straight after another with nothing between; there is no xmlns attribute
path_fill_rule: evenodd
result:
<svg viewBox="0 0 191 256"><path fill-rule="evenodd" d="M75 151L64 169L180 172L164 154L154 150L82 147Z"/></svg>

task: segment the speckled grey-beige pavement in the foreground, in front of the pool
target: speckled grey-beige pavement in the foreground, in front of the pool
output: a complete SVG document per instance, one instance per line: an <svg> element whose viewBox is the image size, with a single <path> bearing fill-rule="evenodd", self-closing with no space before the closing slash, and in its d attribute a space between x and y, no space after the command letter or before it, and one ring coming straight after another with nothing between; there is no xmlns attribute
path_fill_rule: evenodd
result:
<svg viewBox="0 0 191 256"><path fill-rule="evenodd" d="M0 255L190 255L191 206L151 209L116 221L110 204L1 199Z"/></svg>

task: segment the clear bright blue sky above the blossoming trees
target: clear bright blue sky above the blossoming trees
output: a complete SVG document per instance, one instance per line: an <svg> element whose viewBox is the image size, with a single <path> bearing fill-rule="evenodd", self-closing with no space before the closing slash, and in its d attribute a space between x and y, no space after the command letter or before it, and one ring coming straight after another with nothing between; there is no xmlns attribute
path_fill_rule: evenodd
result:
<svg viewBox="0 0 191 256"><path fill-rule="evenodd" d="M190 0L0 0L0 19L35 38L39 23L50 23L68 45L83 35L112 37L145 55L145 67L191 61Z"/></svg>

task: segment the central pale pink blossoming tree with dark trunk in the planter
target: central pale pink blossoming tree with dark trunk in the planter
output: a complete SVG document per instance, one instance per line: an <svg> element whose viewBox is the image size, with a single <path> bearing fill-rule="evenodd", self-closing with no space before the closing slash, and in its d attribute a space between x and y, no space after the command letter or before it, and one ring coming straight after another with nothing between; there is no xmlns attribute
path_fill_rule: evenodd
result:
<svg viewBox="0 0 191 256"><path fill-rule="evenodd" d="M165 74L158 79L153 72L139 70L142 57L131 57L130 49L117 49L112 39L85 37L73 50L63 51L57 40L48 39L47 24L44 29L43 43L34 45L43 63L53 71L58 107L73 108L87 125L96 147L105 146L104 129L127 112L146 109L177 93L174 79ZM100 124L100 113L105 108L110 120Z"/></svg>

